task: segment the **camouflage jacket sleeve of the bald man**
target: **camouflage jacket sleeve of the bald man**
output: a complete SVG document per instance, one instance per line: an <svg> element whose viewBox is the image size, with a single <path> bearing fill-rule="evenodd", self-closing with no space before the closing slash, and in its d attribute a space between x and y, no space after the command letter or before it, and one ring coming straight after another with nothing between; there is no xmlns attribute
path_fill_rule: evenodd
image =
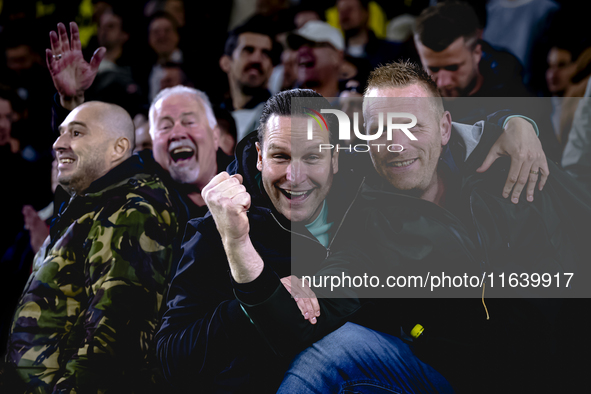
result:
<svg viewBox="0 0 591 394"><path fill-rule="evenodd" d="M134 374L154 353L178 226L169 210L139 195L113 201L92 219L82 246L86 283L80 291L87 308L68 338L70 355L54 392L137 384L145 377Z"/></svg>

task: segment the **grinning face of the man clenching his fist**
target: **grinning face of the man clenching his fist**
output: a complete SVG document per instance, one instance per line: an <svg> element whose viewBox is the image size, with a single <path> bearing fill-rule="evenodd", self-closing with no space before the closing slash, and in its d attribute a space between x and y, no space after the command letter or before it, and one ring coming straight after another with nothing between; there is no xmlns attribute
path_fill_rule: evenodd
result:
<svg viewBox="0 0 591 394"><path fill-rule="evenodd" d="M304 224L318 217L338 171L338 152L319 152L320 144L329 143L328 132L314 123L308 140L307 121L272 115L262 147L257 143L257 168L273 206L288 220Z"/></svg>

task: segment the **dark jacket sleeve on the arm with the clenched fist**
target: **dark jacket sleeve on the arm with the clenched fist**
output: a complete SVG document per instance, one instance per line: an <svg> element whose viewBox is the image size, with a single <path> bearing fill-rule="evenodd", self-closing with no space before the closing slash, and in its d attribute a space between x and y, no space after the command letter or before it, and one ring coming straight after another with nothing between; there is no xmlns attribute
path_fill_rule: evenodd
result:
<svg viewBox="0 0 591 394"><path fill-rule="evenodd" d="M164 376L172 385L197 387L212 380L260 340L234 297L229 276L211 216L191 220L156 338Z"/></svg>

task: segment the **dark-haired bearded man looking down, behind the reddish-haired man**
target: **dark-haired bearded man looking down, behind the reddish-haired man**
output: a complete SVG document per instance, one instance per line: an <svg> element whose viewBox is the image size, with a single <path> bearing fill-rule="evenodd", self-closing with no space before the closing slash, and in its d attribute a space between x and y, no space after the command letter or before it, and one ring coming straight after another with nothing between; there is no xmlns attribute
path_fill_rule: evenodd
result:
<svg viewBox="0 0 591 394"><path fill-rule="evenodd" d="M438 3L416 23L421 63L443 97L531 96L521 81L519 61L479 39L480 22L467 3Z"/></svg>

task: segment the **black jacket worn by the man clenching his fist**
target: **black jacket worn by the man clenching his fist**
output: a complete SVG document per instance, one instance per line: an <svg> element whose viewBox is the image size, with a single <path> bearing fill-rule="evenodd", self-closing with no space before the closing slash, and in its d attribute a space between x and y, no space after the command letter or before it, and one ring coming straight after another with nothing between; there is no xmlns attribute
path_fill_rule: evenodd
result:
<svg viewBox="0 0 591 394"><path fill-rule="evenodd" d="M189 222L183 241L183 257L172 280L166 311L157 335L158 356L164 374L175 388L201 388L203 392L275 392L293 355L309 343L322 338L342 324L344 317L359 309L358 300L346 303L326 303L315 326L301 316L297 304L279 281L292 274L292 267L316 272L331 250L347 244L341 230L332 231L329 250L319 243L305 227L291 226L271 204L256 169L256 133L240 142L236 161L230 172L240 173L251 195L248 216L250 238L265 262L263 273L248 285L234 283L224 248L210 214ZM353 174L350 169L340 172ZM362 183L341 182L345 177L335 175L328 197L329 222L341 226ZM336 233L336 235L335 235ZM236 295L243 298L243 305ZM247 302L244 302L244 301ZM280 337L273 335L273 322L258 317L257 310L280 306L280 313L269 318L274 321L295 320ZM257 308L259 307L259 308ZM253 321L243 308L252 313ZM265 316L266 312L263 313ZM338 319L328 319L329 316ZM327 320L331 325L323 324ZM258 329L257 329L258 328ZM260 330L260 331L259 331ZM263 333L261 335L261 333ZM284 335L298 335L288 344ZM270 345L270 346L269 346Z"/></svg>

